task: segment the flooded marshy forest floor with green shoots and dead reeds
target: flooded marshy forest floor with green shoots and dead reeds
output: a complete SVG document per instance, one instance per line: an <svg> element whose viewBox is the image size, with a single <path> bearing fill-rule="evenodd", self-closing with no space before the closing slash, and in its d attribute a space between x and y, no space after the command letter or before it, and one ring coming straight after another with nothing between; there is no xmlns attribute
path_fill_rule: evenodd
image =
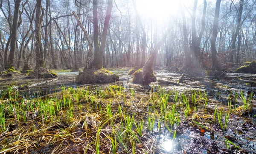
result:
<svg viewBox="0 0 256 154"><path fill-rule="evenodd" d="M0 81L0 153L228 154L256 151L256 74L189 74L179 85L55 79ZM180 73L155 70L177 83Z"/></svg>

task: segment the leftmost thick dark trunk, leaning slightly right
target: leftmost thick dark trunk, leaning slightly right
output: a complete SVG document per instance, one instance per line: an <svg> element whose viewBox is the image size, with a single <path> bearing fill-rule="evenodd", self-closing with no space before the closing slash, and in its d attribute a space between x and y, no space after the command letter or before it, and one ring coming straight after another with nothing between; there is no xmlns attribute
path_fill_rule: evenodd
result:
<svg viewBox="0 0 256 154"><path fill-rule="evenodd" d="M10 43L9 60L7 62L6 67L11 67L14 65L14 55L15 55L16 42L17 42L17 25L18 25L20 2L21 0L15 1L15 8L14 8L13 22L12 22L12 34L10 35L12 39Z"/></svg>

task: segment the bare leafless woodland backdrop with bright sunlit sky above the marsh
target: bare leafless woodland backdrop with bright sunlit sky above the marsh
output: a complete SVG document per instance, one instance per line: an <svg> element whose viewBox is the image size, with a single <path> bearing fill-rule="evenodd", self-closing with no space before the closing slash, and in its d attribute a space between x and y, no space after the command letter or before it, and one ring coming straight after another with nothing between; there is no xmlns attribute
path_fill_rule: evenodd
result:
<svg viewBox="0 0 256 154"><path fill-rule="evenodd" d="M225 69L256 57L255 0L113 0L105 32L107 0L1 0L0 66L94 67L95 1L103 67L145 63L169 27L154 66Z"/></svg>

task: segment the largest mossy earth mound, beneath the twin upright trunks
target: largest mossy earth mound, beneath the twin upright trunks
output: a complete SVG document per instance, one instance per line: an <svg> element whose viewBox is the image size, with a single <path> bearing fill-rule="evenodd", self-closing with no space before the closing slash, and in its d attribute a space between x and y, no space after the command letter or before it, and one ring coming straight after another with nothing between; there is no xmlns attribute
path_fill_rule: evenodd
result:
<svg viewBox="0 0 256 154"><path fill-rule="evenodd" d="M79 84L103 84L116 81L119 81L119 76L103 68L84 70L76 77L76 83Z"/></svg>

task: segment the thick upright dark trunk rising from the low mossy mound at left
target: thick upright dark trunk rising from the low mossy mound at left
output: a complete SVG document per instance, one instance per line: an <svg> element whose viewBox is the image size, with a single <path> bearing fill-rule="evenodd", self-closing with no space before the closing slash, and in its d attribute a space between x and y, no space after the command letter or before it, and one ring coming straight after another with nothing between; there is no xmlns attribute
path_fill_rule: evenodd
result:
<svg viewBox="0 0 256 154"><path fill-rule="evenodd" d="M36 67L44 67L44 51L41 43L41 25L44 16L44 9L41 8L42 0L36 0L35 13L35 62ZM42 11L42 14L41 14Z"/></svg>

